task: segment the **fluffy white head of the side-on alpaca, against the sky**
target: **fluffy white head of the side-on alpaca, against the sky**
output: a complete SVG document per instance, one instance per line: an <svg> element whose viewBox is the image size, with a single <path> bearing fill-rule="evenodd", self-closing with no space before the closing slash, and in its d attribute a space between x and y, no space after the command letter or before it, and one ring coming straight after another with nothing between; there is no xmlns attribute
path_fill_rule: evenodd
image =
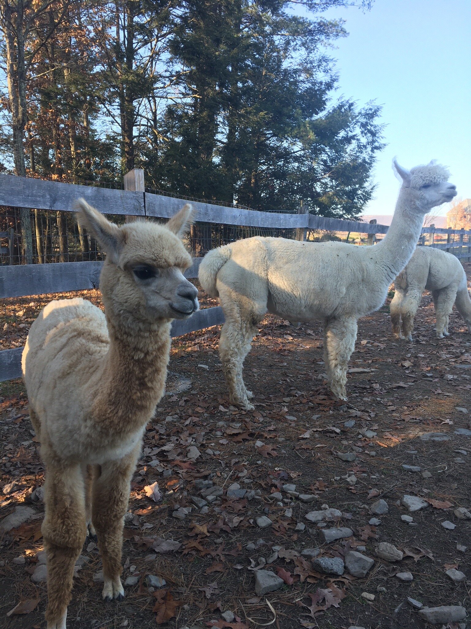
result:
<svg viewBox="0 0 471 629"><path fill-rule="evenodd" d="M457 187L448 183L450 173L440 164L430 162L407 170L394 160L394 167L403 180L401 192L420 213L426 214L431 208L451 201L457 194Z"/></svg>

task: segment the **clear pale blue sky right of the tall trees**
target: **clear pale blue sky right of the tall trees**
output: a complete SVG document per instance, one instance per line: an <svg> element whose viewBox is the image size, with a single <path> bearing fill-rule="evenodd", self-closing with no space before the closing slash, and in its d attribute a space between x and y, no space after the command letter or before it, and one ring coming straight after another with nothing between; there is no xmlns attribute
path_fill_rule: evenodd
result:
<svg viewBox="0 0 471 629"><path fill-rule="evenodd" d="M471 197L471 0L376 0L371 11L331 9L349 36L338 40L338 94L382 104L387 147L365 214L392 214L399 183L391 170L436 159L458 196ZM448 207L440 208L444 214Z"/></svg>

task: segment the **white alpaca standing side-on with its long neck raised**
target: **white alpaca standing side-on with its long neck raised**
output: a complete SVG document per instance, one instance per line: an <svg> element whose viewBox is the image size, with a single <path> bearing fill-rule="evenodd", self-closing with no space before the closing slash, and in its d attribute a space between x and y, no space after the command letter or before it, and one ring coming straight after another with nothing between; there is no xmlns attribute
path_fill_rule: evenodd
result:
<svg viewBox="0 0 471 629"><path fill-rule="evenodd" d="M440 165L409 172L394 164L403 184L391 227L374 247L255 237L205 255L199 279L205 291L219 296L224 311L219 353L232 403L254 408L242 364L267 311L290 321L324 321L328 383L337 398L347 399L357 320L386 300L391 282L414 252L424 214L456 195Z"/></svg>

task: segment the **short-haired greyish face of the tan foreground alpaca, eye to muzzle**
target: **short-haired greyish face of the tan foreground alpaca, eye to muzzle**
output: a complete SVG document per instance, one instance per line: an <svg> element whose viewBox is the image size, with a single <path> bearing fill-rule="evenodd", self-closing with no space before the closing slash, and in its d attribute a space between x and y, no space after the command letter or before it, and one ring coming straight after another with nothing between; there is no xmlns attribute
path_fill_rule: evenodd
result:
<svg viewBox="0 0 471 629"><path fill-rule="evenodd" d="M128 268L143 291L149 313L169 319L185 319L200 307L197 287L185 279L180 269L159 269L142 263Z"/></svg>

